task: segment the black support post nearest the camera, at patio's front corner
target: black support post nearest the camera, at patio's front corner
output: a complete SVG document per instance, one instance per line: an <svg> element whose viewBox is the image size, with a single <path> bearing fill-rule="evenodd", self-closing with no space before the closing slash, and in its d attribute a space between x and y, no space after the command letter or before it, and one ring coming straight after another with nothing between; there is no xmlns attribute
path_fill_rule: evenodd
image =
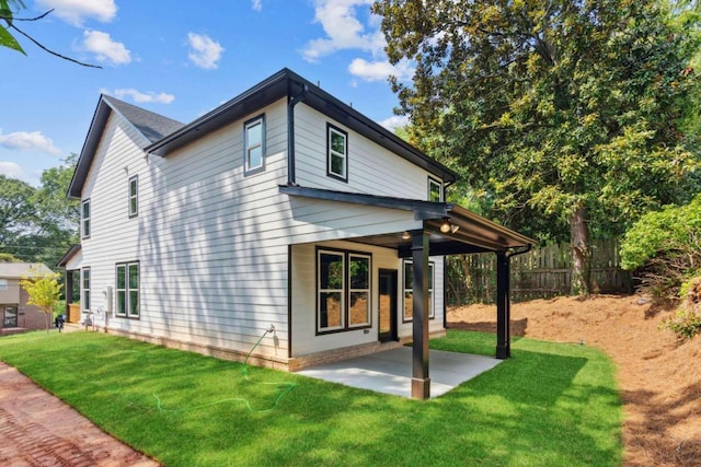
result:
<svg viewBox="0 0 701 467"><path fill-rule="evenodd" d="M428 233L416 231L412 237L413 260L413 352L412 397L430 397L428 377Z"/></svg>

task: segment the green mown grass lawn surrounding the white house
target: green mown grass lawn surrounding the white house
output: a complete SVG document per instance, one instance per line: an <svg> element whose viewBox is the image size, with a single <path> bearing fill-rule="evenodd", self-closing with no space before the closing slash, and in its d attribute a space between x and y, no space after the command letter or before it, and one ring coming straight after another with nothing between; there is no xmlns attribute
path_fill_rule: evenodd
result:
<svg viewBox="0 0 701 467"><path fill-rule="evenodd" d="M432 340L433 348L484 354L494 343L493 335L464 331ZM0 360L166 466L622 459L613 364L581 346L520 339L510 360L427 401L267 369L244 372L241 363L96 332L2 337Z"/></svg>

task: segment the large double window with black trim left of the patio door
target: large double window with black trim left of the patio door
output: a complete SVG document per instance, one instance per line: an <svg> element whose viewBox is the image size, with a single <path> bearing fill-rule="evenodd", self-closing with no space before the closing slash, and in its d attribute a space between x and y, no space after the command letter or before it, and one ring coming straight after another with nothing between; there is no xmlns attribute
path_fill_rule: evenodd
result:
<svg viewBox="0 0 701 467"><path fill-rule="evenodd" d="M317 332L370 326L371 256L317 249Z"/></svg>

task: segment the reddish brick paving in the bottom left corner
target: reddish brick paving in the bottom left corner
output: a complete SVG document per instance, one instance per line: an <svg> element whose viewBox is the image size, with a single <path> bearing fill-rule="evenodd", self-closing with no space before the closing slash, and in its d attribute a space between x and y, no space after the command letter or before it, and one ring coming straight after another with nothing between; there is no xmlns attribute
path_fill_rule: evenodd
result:
<svg viewBox="0 0 701 467"><path fill-rule="evenodd" d="M76 410L0 362L0 465L154 467Z"/></svg>

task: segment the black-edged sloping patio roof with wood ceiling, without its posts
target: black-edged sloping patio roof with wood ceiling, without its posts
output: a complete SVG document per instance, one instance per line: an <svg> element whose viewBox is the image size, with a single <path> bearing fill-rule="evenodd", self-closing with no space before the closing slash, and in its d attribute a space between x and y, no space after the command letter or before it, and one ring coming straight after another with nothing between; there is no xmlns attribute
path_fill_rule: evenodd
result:
<svg viewBox="0 0 701 467"><path fill-rule="evenodd" d="M300 186L280 186L279 190L289 196L310 199L412 211L415 220L424 221L425 229L430 234L429 248L430 255L434 256L506 252L536 244L532 238L451 202L423 201ZM448 220L453 229L457 229L448 233L441 232L440 225L445 220ZM392 247L399 250L401 257L411 256L411 238L403 238L402 232L366 236L354 241Z"/></svg>

